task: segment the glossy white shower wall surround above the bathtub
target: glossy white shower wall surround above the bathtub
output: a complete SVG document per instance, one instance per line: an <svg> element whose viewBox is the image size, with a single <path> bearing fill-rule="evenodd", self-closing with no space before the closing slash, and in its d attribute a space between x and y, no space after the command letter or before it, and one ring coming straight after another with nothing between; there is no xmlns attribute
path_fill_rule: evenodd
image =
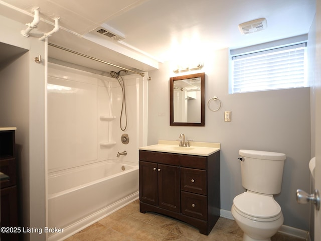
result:
<svg viewBox="0 0 321 241"><path fill-rule="evenodd" d="M146 86L138 75L124 76L128 128L119 127L121 88L108 73L95 74L49 64L48 68L48 172L116 159L138 164L138 147L146 145L141 123ZM110 116L111 118L108 118ZM131 138L121 144L123 133Z"/></svg>

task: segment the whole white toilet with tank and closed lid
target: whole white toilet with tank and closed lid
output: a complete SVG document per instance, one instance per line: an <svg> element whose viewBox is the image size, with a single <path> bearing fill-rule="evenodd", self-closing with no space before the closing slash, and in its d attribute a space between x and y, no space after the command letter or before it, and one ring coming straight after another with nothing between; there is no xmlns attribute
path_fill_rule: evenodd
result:
<svg viewBox="0 0 321 241"><path fill-rule="evenodd" d="M283 153L240 150L242 186L246 192L233 199L232 215L243 230L243 241L270 241L283 224L280 205Z"/></svg>

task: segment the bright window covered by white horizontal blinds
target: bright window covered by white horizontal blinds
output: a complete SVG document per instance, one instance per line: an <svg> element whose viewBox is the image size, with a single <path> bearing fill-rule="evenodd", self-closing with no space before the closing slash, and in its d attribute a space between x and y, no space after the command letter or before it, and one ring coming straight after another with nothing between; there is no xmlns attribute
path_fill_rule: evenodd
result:
<svg viewBox="0 0 321 241"><path fill-rule="evenodd" d="M231 51L230 93L306 86L306 43L251 53Z"/></svg>

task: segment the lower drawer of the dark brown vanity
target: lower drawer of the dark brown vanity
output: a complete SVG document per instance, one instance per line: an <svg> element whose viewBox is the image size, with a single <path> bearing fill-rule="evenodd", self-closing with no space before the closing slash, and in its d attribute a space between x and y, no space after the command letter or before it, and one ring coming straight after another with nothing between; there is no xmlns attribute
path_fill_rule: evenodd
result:
<svg viewBox="0 0 321 241"><path fill-rule="evenodd" d="M183 214L207 220L206 196L182 191L181 198Z"/></svg>

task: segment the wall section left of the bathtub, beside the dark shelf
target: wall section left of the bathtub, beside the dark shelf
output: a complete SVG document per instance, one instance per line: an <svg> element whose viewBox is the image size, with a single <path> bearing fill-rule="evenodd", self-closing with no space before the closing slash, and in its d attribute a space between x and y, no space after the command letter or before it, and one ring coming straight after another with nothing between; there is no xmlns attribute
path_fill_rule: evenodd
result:
<svg viewBox="0 0 321 241"><path fill-rule="evenodd" d="M21 158L24 227L46 226L46 42L25 38L24 24L0 16L0 42L27 53L4 63L0 70L0 126L15 126ZM17 31L18 30L18 31ZM1 53L1 51L0 51ZM24 233L24 240L45 240L46 233Z"/></svg>

